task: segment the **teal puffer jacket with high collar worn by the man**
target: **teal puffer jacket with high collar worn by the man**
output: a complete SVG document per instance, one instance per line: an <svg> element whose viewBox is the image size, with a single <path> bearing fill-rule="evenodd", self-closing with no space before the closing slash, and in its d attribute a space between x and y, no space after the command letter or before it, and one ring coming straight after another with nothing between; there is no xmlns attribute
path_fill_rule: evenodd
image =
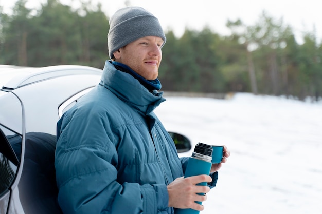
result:
<svg viewBox="0 0 322 214"><path fill-rule="evenodd" d="M101 83L57 123L64 213L173 213L167 185L183 176L187 159L153 113L163 101L106 61Z"/></svg>

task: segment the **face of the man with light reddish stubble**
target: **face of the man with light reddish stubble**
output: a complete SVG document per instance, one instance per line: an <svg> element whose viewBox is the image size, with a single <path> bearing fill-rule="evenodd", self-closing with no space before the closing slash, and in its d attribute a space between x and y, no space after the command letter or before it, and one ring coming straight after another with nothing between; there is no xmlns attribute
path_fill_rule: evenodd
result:
<svg viewBox="0 0 322 214"><path fill-rule="evenodd" d="M162 60L163 43L157 36L139 38L115 51L115 61L126 64L147 80L155 80Z"/></svg>

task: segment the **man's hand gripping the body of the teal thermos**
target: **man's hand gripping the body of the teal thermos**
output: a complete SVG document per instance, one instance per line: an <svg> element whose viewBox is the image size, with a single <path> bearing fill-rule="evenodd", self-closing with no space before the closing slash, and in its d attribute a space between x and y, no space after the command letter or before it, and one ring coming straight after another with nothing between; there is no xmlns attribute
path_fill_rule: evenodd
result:
<svg viewBox="0 0 322 214"><path fill-rule="evenodd" d="M191 176L188 178L177 178L170 183L168 188L169 193L169 207L181 208L181 209L195 209L203 210L204 207L195 201L206 201L206 195L200 195L197 193L207 193L210 191L208 186L197 186L196 184L202 182L211 182L211 177L205 174L201 176Z"/></svg>

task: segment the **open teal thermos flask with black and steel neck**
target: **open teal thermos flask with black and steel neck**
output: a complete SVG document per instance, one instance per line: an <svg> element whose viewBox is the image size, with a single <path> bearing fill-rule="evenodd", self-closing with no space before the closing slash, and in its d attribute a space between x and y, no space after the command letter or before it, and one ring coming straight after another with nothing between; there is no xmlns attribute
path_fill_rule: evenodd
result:
<svg viewBox="0 0 322 214"><path fill-rule="evenodd" d="M211 155L212 146L198 143L191 157L188 160L188 165L185 172L185 178L190 176L199 176L200 174L210 174L211 169ZM202 182L196 185L206 186L207 182ZM199 193L204 194L204 193ZM201 202L196 201L196 203L201 204ZM200 211L194 209L175 209L176 214L199 214Z"/></svg>

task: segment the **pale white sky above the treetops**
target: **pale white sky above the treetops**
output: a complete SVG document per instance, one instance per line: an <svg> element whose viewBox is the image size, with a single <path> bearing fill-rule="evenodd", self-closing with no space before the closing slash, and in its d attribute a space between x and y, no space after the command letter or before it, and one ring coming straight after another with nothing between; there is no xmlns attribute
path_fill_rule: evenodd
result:
<svg viewBox="0 0 322 214"><path fill-rule="evenodd" d="M88 2L90 0L83 0ZM167 31L172 29L181 36L186 27L201 30L210 27L221 35L229 35L225 26L227 20L236 21L240 18L246 25L254 25L259 21L263 11L277 20L290 25L301 42L303 32L315 32L319 41L322 39L322 13L320 3L316 0L91 0L92 5L102 4L102 10L109 17L118 9L126 6L141 6L153 13ZM0 0L0 5L8 11L15 1ZM37 8L46 0L28 0L26 7ZM61 0L63 4L71 4L77 8L79 0ZM318 41L318 42L319 42Z"/></svg>

